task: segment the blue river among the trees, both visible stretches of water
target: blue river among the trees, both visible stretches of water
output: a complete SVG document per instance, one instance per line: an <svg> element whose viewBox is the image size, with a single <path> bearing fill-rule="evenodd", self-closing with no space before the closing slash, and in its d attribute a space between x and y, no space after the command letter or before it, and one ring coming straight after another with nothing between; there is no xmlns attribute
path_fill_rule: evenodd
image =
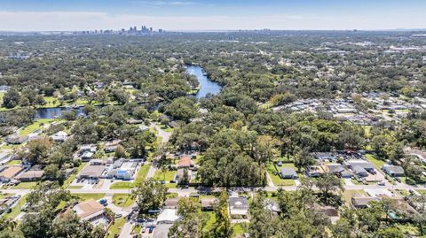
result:
<svg viewBox="0 0 426 238"><path fill-rule="evenodd" d="M200 90L197 92L195 97L200 99L209 94L217 95L220 93L222 86L215 81L210 81L209 78L204 75L201 66L197 65L186 65L186 72L197 77L197 80L200 82ZM53 107L53 108L39 108L37 109L36 118L38 119L55 119L59 118L62 115L62 111L75 110L77 115L84 115L83 107L78 107L75 109L65 108L65 107Z"/></svg>

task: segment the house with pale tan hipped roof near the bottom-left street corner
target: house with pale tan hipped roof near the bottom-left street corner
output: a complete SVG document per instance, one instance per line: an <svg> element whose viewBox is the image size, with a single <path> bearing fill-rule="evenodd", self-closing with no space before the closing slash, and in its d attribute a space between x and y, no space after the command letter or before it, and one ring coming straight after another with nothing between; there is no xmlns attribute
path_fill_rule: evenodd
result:
<svg viewBox="0 0 426 238"><path fill-rule="evenodd" d="M104 206L94 199L76 204L73 211L80 219L90 221L92 224L106 219Z"/></svg>

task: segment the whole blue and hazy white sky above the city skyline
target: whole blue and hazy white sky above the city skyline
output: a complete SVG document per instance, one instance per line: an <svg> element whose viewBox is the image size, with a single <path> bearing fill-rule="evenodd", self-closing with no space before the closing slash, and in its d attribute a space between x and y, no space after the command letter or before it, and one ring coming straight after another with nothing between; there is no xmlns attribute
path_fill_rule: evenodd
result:
<svg viewBox="0 0 426 238"><path fill-rule="evenodd" d="M426 28L426 0L0 0L0 31Z"/></svg>

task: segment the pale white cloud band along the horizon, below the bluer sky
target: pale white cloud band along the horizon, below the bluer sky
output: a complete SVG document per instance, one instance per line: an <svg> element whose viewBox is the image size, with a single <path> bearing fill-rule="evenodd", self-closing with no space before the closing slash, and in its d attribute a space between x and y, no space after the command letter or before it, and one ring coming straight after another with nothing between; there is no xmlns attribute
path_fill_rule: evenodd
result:
<svg viewBox="0 0 426 238"><path fill-rule="evenodd" d="M168 2L171 3L171 2ZM175 2L177 3L177 2ZM266 15L266 16L148 16L106 12L5 12L0 11L0 30L92 30L152 26L166 30L232 29L385 29L424 27L426 15L410 18L359 18L356 16Z"/></svg>

